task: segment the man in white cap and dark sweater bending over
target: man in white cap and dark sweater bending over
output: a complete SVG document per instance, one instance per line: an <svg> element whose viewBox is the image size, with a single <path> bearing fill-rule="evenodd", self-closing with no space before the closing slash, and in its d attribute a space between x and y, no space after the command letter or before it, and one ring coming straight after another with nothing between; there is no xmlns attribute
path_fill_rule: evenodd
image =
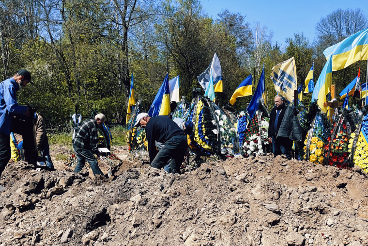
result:
<svg viewBox="0 0 368 246"><path fill-rule="evenodd" d="M174 174L180 174L180 166L183 163L187 149L184 131L172 119L164 115L150 117L146 113L140 113L137 115L135 126L138 127L139 125L146 129L151 166L162 168L172 158L171 171ZM156 141L165 143L160 151L156 150Z"/></svg>

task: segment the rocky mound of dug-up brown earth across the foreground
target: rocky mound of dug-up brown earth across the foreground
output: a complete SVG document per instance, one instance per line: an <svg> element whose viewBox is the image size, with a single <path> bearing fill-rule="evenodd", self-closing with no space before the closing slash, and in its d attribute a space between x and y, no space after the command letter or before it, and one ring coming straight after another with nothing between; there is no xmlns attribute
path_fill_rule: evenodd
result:
<svg viewBox="0 0 368 246"><path fill-rule="evenodd" d="M51 157L70 153L51 149ZM63 161L57 171L8 164L0 246L368 245L368 177L359 168L267 155L172 175L128 160L126 147L114 153L122 162L110 180Z"/></svg>

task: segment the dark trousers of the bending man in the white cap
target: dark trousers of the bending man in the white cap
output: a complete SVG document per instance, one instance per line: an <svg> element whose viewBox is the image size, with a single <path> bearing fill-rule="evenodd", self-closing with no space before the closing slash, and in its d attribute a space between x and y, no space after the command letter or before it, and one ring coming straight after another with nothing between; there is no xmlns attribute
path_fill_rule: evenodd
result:
<svg viewBox="0 0 368 246"><path fill-rule="evenodd" d="M162 168L168 163L170 158L172 158L170 163L172 173L180 173L180 166L183 163L187 146L186 136L173 136L158 152L151 166L154 168Z"/></svg>

